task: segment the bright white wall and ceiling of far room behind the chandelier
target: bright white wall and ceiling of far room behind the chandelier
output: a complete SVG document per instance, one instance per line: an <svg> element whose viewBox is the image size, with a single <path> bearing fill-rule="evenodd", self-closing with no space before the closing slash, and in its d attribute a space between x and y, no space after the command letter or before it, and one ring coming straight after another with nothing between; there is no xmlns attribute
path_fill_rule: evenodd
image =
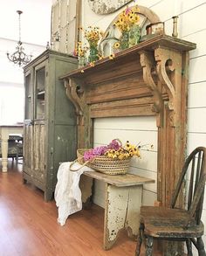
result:
<svg viewBox="0 0 206 256"><path fill-rule="evenodd" d="M0 124L23 121L24 117L24 73L22 67L14 65L7 59L6 52L16 51L18 34L18 14L21 15L21 41L24 52L36 58L46 49L47 41L51 37L52 0L10 0L1 1L0 5ZM8 90L6 89L8 87ZM13 88L13 89L12 89ZM10 94L8 93L10 91ZM6 107L4 102L15 99L18 94L19 104L12 112L14 101ZM6 98L6 99L5 99ZM12 116L13 115L13 116Z"/></svg>

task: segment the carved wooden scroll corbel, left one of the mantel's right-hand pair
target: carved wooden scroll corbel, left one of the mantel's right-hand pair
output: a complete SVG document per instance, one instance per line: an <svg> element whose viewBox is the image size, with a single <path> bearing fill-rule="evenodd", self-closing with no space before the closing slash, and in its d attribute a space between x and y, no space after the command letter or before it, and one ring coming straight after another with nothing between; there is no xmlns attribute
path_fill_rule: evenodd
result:
<svg viewBox="0 0 206 256"><path fill-rule="evenodd" d="M152 69L154 68L154 57L150 52L142 51L141 55L141 66L143 68L143 80L146 82L146 85L151 89L154 95L154 106L152 110L156 113L161 112L162 108L162 97L161 92L159 91L158 86L154 83L152 77Z"/></svg>

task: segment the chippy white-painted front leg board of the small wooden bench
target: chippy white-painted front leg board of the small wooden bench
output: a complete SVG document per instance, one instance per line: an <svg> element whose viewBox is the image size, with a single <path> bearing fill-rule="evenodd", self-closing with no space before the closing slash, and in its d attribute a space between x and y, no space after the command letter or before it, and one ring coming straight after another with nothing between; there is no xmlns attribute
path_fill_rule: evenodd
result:
<svg viewBox="0 0 206 256"><path fill-rule="evenodd" d="M141 207L141 186L106 186L104 248L113 246L121 229L128 229L128 235L137 235Z"/></svg>

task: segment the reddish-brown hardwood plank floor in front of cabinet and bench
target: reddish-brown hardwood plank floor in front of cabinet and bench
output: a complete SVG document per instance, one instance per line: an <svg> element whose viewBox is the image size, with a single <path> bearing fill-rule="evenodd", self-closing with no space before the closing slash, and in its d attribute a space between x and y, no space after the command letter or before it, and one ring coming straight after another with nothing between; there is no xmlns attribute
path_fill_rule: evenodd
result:
<svg viewBox="0 0 206 256"><path fill-rule="evenodd" d="M64 226L57 217L55 201L45 203L41 190L22 183L22 164L10 161L7 173L0 170L1 256L134 255L136 243L125 233L111 250L102 249L104 211L97 205L73 214Z"/></svg>

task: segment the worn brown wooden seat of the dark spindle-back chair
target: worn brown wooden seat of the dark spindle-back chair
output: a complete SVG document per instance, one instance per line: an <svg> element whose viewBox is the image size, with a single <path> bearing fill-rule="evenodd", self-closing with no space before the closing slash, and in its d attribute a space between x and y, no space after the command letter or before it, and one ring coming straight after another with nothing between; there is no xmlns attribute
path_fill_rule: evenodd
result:
<svg viewBox="0 0 206 256"><path fill-rule="evenodd" d="M141 222L145 234L154 238L185 239L203 235L203 223L196 225L195 219L189 221L188 211L163 207L142 206Z"/></svg>

